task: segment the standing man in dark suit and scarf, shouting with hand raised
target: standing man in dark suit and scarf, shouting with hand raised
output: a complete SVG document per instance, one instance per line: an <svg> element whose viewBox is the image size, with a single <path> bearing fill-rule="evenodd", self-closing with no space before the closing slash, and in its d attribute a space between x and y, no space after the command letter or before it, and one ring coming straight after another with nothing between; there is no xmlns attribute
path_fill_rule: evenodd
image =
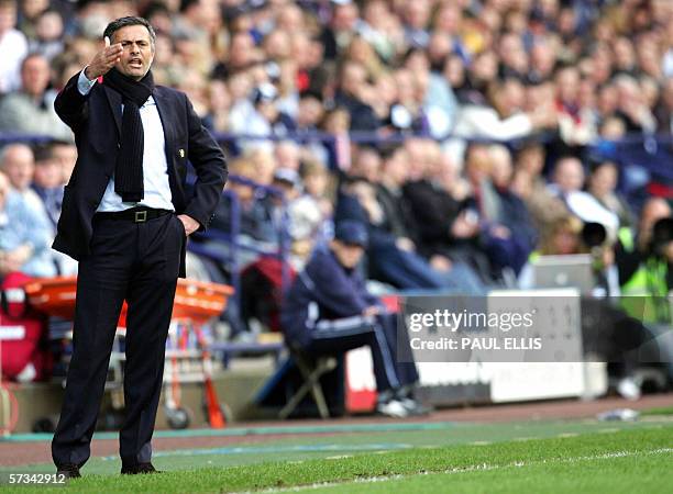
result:
<svg viewBox="0 0 673 494"><path fill-rule="evenodd" d="M150 473L165 341L186 238L212 220L224 156L187 97L154 86L155 34L141 18L104 32L104 47L54 105L75 133L54 248L79 261L74 353L52 442L57 471L73 478L90 456L119 314L126 315L122 473ZM187 160L197 173L185 189Z"/></svg>

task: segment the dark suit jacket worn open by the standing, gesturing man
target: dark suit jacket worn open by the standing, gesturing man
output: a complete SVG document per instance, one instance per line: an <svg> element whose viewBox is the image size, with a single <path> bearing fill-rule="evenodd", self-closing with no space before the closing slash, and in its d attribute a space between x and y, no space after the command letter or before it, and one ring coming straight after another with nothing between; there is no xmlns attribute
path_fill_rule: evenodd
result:
<svg viewBox="0 0 673 494"><path fill-rule="evenodd" d="M73 76L54 102L60 120L75 133L78 157L65 188L53 247L74 259L90 252L91 220L114 173L122 119L122 99L117 91L96 83L87 96L81 96L78 77L79 74ZM157 86L152 96L164 127L173 205L177 214L191 216L205 229L227 180L224 155L201 125L186 94ZM187 160L197 173L191 193L186 191ZM184 248L180 277L185 277Z"/></svg>

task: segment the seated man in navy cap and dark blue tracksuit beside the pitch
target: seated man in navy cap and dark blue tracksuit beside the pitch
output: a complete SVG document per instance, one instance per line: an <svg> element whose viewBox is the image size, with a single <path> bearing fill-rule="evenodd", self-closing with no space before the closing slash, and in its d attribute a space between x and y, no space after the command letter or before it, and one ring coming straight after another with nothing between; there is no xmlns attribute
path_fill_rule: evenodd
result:
<svg viewBox="0 0 673 494"><path fill-rule="evenodd" d="M357 265L367 244L360 222L336 225L329 247L319 247L293 283L280 315L288 345L310 355L342 353L368 346L378 390L377 412L406 417L426 412L411 396L418 381L410 356L397 355L397 316L367 292ZM409 348L400 332L400 348ZM406 360L406 361L404 361Z"/></svg>

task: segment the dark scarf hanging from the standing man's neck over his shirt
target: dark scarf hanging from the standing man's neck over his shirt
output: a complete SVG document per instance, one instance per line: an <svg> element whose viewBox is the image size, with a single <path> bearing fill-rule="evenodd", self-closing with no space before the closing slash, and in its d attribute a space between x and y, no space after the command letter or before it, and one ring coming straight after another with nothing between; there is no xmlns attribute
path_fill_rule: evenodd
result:
<svg viewBox="0 0 673 494"><path fill-rule="evenodd" d="M121 94L124 105L121 145L114 168L114 192L121 195L123 202L139 202L144 197L143 150L145 147L140 106L152 96L154 78L152 71L147 71L145 77L136 81L112 68L106 74L103 83Z"/></svg>

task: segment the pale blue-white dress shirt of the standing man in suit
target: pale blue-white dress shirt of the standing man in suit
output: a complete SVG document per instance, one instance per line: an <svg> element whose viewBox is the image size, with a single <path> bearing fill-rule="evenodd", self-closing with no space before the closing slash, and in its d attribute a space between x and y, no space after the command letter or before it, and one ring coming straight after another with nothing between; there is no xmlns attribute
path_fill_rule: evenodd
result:
<svg viewBox="0 0 673 494"><path fill-rule="evenodd" d="M77 79L77 89L82 96L89 93L96 79L89 80L84 70ZM123 111L123 104L122 109ZM170 184L168 183L168 165L166 162L164 127L156 109L154 98L150 97L140 108L143 122L143 187L144 197L140 202L122 202L121 197L114 192L114 175L110 178L106 193L96 210L97 213L124 211L139 205L156 210L175 211L170 201Z"/></svg>

